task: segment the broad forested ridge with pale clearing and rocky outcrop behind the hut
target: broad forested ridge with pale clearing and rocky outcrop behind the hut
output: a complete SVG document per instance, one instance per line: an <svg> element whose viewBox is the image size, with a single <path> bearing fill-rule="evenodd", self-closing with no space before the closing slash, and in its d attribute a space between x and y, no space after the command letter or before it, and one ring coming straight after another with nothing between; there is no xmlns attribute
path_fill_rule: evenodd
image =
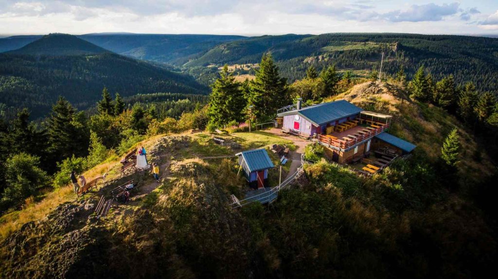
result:
<svg viewBox="0 0 498 279"><path fill-rule="evenodd" d="M498 39L484 37L374 33L262 36L221 44L185 66L257 63L265 52L271 52L282 75L291 81L303 77L310 65L318 70L336 65L339 70L378 71L384 52L382 71L389 75L404 68L411 77L425 66L435 79L453 74L458 83L472 80L483 91L497 93L498 88Z"/></svg>

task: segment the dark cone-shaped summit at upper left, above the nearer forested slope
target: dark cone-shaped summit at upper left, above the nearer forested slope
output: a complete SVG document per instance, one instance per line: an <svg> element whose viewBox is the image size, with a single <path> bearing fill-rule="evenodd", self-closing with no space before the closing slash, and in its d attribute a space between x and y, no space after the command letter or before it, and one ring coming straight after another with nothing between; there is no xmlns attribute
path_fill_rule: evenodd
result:
<svg viewBox="0 0 498 279"><path fill-rule="evenodd" d="M35 40L22 48L8 51L9 54L22 55L82 55L102 54L110 51L69 34L49 34Z"/></svg>

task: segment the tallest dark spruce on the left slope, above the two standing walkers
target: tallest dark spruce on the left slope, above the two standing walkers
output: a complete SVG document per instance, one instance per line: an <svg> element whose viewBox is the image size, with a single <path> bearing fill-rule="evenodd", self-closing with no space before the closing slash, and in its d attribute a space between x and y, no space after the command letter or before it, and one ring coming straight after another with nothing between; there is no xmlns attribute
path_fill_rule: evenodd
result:
<svg viewBox="0 0 498 279"><path fill-rule="evenodd" d="M52 107L48 118L47 133L49 150L54 154L56 162L73 154L86 155L89 135L83 113L76 109L63 97Z"/></svg>

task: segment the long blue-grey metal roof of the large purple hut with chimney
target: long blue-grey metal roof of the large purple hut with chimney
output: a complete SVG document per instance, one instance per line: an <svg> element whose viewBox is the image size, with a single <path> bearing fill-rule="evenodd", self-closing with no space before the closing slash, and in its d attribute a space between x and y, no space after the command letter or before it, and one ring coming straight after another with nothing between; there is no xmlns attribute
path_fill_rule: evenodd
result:
<svg viewBox="0 0 498 279"><path fill-rule="evenodd" d="M278 116L299 114L309 122L320 126L332 121L353 116L362 112L363 109L353 105L346 100L321 103L300 110L279 113Z"/></svg>

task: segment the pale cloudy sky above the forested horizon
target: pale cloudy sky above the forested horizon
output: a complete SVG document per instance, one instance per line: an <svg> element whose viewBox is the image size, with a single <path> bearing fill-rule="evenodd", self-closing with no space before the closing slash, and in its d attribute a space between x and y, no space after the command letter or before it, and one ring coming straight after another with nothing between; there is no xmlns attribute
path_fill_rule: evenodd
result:
<svg viewBox="0 0 498 279"><path fill-rule="evenodd" d="M498 34L498 0L0 0L0 34Z"/></svg>

